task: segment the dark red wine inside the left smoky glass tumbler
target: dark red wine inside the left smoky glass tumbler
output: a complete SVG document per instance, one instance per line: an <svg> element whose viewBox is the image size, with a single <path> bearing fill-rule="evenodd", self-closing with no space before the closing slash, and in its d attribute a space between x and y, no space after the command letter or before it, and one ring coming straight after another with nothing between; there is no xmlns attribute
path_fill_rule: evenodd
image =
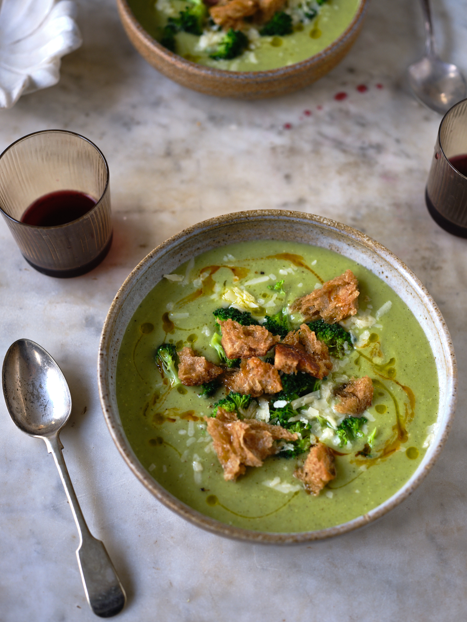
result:
<svg viewBox="0 0 467 622"><path fill-rule="evenodd" d="M95 200L77 190L59 190L39 197L21 216L21 222L39 227L66 225L92 210Z"/></svg>

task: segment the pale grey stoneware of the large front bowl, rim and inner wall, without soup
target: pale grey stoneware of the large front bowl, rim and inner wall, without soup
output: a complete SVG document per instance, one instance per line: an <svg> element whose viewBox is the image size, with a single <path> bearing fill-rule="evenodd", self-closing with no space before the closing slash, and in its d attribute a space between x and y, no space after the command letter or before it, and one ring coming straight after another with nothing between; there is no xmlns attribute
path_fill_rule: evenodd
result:
<svg viewBox="0 0 467 622"><path fill-rule="evenodd" d="M183 262L212 248L245 240L264 239L266 232L267 239L291 240L331 249L354 259L384 279L418 318L432 346L438 371L438 430L435 440L428 447L410 480L369 513L319 531L289 534L248 531L208 518L182 503L159 485L139 463L123 431L116 401L116 364L125 329L138 305L163 278L163 274L170 274ZM182 518L220 536L280 544L320 540L344 534L383 516L406 499L440 455L454 415L457 377L453 345L440 310L415 274L400 259L360 231L327 218L297 211L258 210L227 214L189 227L158 246L136 266L116 294L105 320L99 350L98 384L105 420L118 450L134 475L159 501Z"/></svg>

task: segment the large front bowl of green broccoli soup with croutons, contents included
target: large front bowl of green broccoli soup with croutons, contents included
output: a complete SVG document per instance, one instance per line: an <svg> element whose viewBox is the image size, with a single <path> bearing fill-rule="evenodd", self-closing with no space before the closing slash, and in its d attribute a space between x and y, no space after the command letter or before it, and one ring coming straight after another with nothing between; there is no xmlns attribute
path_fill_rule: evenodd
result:
<svg viewBox="0 0 467 622"><path fill-rule="evenodd" d="M407 498L446 440L456 362L390 251L304 213L229 214L131 272L108 312L101 406L134 475L222 536L336 536Z"/></svg>

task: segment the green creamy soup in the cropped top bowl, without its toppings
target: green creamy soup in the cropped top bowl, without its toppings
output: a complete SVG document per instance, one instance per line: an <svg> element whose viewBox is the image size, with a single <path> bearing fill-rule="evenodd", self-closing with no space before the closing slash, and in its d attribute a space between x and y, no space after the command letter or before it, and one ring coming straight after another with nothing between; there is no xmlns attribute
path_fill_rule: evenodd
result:
<svg viewBox="0 0 467 622"><path fill-rule="evenodd" d="M258 72L293 65L314 56L331 45L354 18L360 0L288 0L281 12L291 17L291 34L261 35L262 26L247 24L242 32L247 37L241 53L229 60L215 60L225 32L221 32L206 16L202 35L179 30L172 43L164 28L189 0L128 0L134 16L150 35L172 47L172 51L192 62L235 72Z"/></svg>

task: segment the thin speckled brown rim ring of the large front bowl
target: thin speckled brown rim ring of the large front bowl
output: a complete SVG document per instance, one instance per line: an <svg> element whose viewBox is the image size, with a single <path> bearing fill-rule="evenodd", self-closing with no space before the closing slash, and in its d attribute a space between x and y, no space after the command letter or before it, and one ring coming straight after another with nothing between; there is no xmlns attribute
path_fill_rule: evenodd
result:
<svg viewBox="0 0 467 622"><path fill-rule="evenodd" d="M225 226L229 223L238 224L251 220L252 218L265 218L266 220L270 220L272 218L276 218L278 220L301 220L303 221L303 224L305 226L307 224L311 226L316 225L320 228L328 229L334 231L335 233L342 234L343 236L346 236L347 238L356 241L362 246L366 246L367 249L373 251L373 253L379 256L380 259L383 259L384 261L388 262L392 267L395 267L397 271L402 275L403 279L407 281L408 284L410 284L411 287L417 291L418 296L427 308L427 312L429 313L430 318L436 325L436 329L438 330L438 335L440 336L440 341L443 346L443 352L445 353L447 372L447 391L445 401L446 415L442 434L436 442L436 446L433 449L430 459L423 466L423 468L421 468L422 465L419 465L417 467L413 475L408 480L408 482L410 482L410 486L408 486L408 482L406 482L396 493L390 496L389 499L379 504L368 513L358 516L351 521L336 525L334 527L327 527L326 529L318 529L316 531L293 533L252 531L248 529L242 529L240 527L227 525L223 522L217 521L215 519L209 518L208 516L205 516L204 514L199 513L198 511L187 506L185 503L182 503L182 501L179 501L179 499L166 491L163 486L161 486L156 480L152 478L151 475L149 475L149 472L144 469L144 467L141 465L141 463L139 463L136 457L134 457L134 454L130 447L130 443L128 443L125 436L120 432L118 425L118 412L113 412L113 408L111 406L109 398L110 389L107 383L106 371L108 369L109 358L111 355L110 345L113 337L113 324L115 323L120 309L126 300L126 295L130 294L131 289L134 287L134 285L136 285L139 279L144 277L146 272L151 269L154 263L156 263L158 259L163 256L164 253L176 247L177 244L181 244L189 238L193 238L200 233L206 233L209 230L214 230L216 228L219 228L220 226ZM404 499L407 499L407 497L413 492L413 490L415 490L415 488L417 488L418 485L420 485L422 480L431 470L432 466L440 456L441 450L450 432L456 407L457 368L451 336L448 328L446 327L446 323L441 315L441 312L435 303L435 300L433 300L432 296L428 293L428 290L425 288L422 282L420 282L417 276L415 276L410 268L408 268L403 263L403 261L397 258L394 253L389 251L387 248L385 248L385 246L370 238L366 234L361 233L361 231L358 231L342 223L338 223L337 221L324 218L323 216L316 216L309 213L289 210L250 210L216 216L214 218L201 221L196 225L187 227L186 229L175 234L171 238L164 241L162 244L159 244L159 246L157 246L155 249L153 249L153 251L151 251L151 253L149 253L142 261L140 261L138 266L136 266L133 271L131 271L130 275L125 279L125 282L123 282L123 285L121 285L120 289L115 295L115 298L113 299L111 307L106 315L101 333L97 376L101 407L111 437L115 442L116 447L121 453L123 459L125 460L127 465L130 466L131 471L133 471L134 475L136 475L139 481L141 481L141 483L143 483L143 485L167 508L172 509L172 511L177 513L182 518L187 519L189 522L192 522L192 524L195 524L198 527L202 527L202 529L205 529L206 531L213 532L214 534L220 536L229 537L240 541L253 542L256 544L299 544L301 542L323 540L329 537L339 536L346 532L354 531L354 529L358 529L359 527L367 525L370 522L379 519L381 516L384 516L384 514L395 508L395 506L399 505Z"/></svg>

